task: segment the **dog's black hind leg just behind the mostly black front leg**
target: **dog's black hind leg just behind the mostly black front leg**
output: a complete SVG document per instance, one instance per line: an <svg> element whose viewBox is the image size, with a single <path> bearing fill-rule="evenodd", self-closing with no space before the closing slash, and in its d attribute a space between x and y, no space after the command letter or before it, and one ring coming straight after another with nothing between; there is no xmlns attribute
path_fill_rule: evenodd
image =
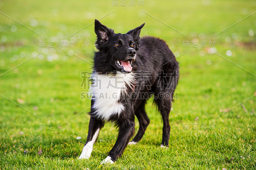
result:
<svg viewBox="0 0 256 170"><path fill-rule="evenodd" d="M128 144L137 144L140 139L143 137L146 128L148 127L149 124L149 118L147 116L147 113L145 111L145 104L146 104L146 100L143 101L140 106L137 108L137 110L135 111L135 115L137 116L138 120L139 120L139 130L136 134L136 136L132 139L131 142L129 142Z"/></svg>

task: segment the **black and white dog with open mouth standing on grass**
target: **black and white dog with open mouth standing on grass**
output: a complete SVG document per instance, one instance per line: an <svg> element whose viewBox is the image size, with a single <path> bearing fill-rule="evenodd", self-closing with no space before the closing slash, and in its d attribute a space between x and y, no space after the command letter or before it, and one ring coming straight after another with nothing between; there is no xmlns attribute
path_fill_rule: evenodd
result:
<svg viewBox="0 0 256 170"><path fill-rule="evenodd" d="M144 25L121 34L95 19L98 51L93 57L90 122L79 159L90 158L100 129L108 121L115 123L119 133L101 164L114 163L127 144L137 144L149 124L145 104L153 95L164 124L161 147L168 147L169 114L179 79L179 63L165 41L150 36L140 39ZM140 127L129 142L135 131L135 115Z"/></svg>

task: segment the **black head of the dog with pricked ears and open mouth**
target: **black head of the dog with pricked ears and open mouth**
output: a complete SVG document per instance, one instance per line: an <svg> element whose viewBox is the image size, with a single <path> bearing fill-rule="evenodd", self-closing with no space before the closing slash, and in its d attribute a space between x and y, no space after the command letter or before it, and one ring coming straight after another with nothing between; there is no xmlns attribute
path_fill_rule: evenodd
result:
<svg viewBox="0 0 256 170"><path fill-rule="evenodd" d="M132 72L132 63L136 60L136 51L140 45L140 30L144 25L145 23L125 34L116 34L114 30L95 19L95 45L101 56L104 55L103 62L111 65L112 70L108 66L109 71ZM102 64L100 65L103 66Z"/></svg>

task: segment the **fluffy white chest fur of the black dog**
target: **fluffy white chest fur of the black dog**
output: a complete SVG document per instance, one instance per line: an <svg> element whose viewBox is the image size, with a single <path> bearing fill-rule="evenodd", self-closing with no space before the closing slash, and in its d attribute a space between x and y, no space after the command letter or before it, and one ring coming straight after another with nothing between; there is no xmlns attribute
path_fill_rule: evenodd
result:
<svg viewBox="0 0 256 170"><path fill-rule="evenodd" d="M108 120L113 114L120 114L124 110L124 105L118 100L121 93L127 92L126 85L132 87L134 74L123 74L117 72L113 75L101 75L92 73L93 83L91 85L92 98L96 110L96 115L104 120Z"/></svg>

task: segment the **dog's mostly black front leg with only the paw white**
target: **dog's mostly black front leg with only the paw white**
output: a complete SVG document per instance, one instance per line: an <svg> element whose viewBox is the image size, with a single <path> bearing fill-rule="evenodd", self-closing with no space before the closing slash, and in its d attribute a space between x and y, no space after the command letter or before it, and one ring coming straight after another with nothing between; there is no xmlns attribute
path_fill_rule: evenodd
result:
<svg viewBox="0 0 256 170"><path fill-rule="evenodd" d="M112 164L116 161L116 159L119 156L121 156L130 138L134 134L134 127L135 127L134 115L133 115L133 119L123 120L123 122L120 122L118 126L119 126L119 133L118 133L116 143L111 149L111 151L109 152L108 157L104 159L101 162L101 164L104 164L104 163Z"/></svg>

